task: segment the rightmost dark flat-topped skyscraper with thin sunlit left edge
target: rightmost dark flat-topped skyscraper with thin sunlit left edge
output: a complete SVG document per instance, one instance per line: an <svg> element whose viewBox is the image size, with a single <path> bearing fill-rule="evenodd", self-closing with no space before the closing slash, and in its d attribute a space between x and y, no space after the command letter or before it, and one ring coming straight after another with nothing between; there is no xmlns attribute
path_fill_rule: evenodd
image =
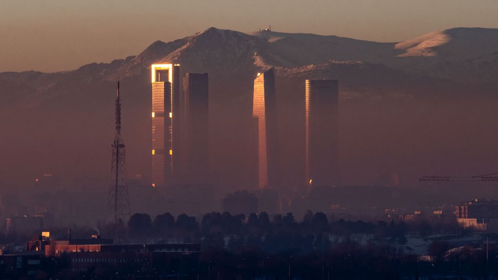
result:
<svg viewBox="0 0 498 280"><path fill-rule="evenodd" d="M306 180L339 184L339 86L337 80L306 80Z"/></svg>

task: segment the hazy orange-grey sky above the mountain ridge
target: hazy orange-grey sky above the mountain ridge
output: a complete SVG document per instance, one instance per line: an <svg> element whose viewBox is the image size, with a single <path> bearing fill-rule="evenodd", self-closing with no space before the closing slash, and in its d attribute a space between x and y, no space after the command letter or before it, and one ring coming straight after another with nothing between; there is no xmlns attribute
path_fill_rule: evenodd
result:
<svg viewBox="0 0 498 280"><path fill-rule="evenodd" d="M498 0L0 0L0 72L76 69L210 26L402 41L498 28Z"/></svg>

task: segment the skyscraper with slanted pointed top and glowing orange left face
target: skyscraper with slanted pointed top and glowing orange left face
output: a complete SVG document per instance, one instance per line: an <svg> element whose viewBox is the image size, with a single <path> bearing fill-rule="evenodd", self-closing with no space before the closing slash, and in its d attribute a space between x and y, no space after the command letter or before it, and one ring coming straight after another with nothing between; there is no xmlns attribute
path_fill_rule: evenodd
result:
<svg viewBox="0 0 498 280"><path fill-rule="evenodd" d="M258 73L254 79L252 117L258 119L257 185L259 188L277 187L279 166L273 68Z"/></svg>

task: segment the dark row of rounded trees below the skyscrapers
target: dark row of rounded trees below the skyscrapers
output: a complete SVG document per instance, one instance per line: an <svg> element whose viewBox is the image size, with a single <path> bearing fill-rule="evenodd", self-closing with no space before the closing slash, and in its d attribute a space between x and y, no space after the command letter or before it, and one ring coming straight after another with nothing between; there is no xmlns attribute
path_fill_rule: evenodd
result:
<svg viewBox="0 0 498 280"><path fill-rule="evenodd" d="M205 214L200 223L195 217L186 214L181 214L175 219L170 213L164 213L152 220L148 214L135 213L130 217L127 226L129 237L134 240L202 241L206 244L215 244L216 247L220 247L218 245L221 243L227 244L229 239L237 243L242 241L248 243L251 239L262 242L274 236L278 236L278 240L296 237L296 242L289 241L294 244L298 243L298 240L306 240L307 237L308 240L313 237L311 243L319 242L314 240L315 238L321 238L326 243L329 242L331 234L336 239L363 234L371 238L404 243L409 229L405 223L394 221L389 224L383 221L367 223L361 220L353 222L342 219L329 222L324 213L310 211L304 215L302 221L294 219L292 213L277 214L270 218L265 212L259 215L252 213L249 216L212 212Z"/></svg>

